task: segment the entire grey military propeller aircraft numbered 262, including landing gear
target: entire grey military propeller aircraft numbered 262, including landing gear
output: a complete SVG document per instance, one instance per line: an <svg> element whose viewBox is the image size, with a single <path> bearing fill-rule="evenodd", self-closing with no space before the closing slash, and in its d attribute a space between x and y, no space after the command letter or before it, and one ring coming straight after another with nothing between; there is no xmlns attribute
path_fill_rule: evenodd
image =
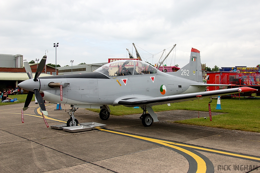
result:
<svg viewBox="0 0 260 173"><path fill-rule="evenodd" d="M200 52L193 48L189 64L177 72L168 73L163 73L144 61L126 59L108 63L90 73L39 77L46 58L47 56L43 56L34 78L27 60L24 60L30 79L18 85L29 91L23 110L28 108L33 94L44 115L48 115L48 112L43 99L52 103L70 104L68 127L79 123L74 117L78 108L98 108L100 118L107 120L110 115L109 105L139 106L143 110L140 116L142 124L148 127L158 121L152 106L194 100L198 97L211 98L256 91L249 87L206 91L206 86L220 85L203 83Z"/></svg>

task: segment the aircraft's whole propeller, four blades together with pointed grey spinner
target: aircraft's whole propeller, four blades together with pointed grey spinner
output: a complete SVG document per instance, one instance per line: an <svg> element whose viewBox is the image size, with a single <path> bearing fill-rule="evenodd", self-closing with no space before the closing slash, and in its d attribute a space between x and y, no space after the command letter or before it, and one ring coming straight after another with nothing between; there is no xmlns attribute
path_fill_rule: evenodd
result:
<svg viewBox="0 0 260 173"><path fill-rule="evenodd" d="M45 63L46 63L46 59L47 59L47 56L44 55L42 57L42 60L40 62L40 64L38 65L38 68L36 70L36 73L35 73L35 76L33 78L33 73L31 71L31 67L28 63L28 61L26 59L24 59L24 68L25 68L25 71L29 77L29 80L25 80L23 82L21 82L20 84L18 84L19 87L21 88L24 88L26 90L29 91L27 97L26 97L26 100L25 100L25 103L24 103L24 108L23 110L26 110L28 109L28 106L31 102L31 100L33 99L33 94L35 95L38 103L39 103L39 106L41 107L42 109L42 113L44 115L48 115L48 112L46 111L46 108L45 108L45 105L44 105L44 101L42 99L42 96L39 92L40 90L40 82L37 80L37 78L40 76L44 66L45 66Z"/></svg>

